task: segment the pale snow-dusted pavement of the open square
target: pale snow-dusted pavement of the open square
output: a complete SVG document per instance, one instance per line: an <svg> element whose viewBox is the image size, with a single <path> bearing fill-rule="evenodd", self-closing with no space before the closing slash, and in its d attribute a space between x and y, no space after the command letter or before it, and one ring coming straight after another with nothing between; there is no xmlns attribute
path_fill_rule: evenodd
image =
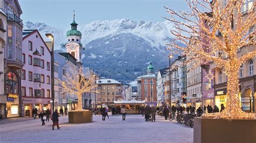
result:
<svg viewBox="0 0 256 143"><path fill-rule="evenodd" d="M146 122L141 115L93 116L93 123L68 124L59 117L60 129L52 121L42 126L40 119L0 124L0 142L193 142L193 128L164 120Z"/></svg>

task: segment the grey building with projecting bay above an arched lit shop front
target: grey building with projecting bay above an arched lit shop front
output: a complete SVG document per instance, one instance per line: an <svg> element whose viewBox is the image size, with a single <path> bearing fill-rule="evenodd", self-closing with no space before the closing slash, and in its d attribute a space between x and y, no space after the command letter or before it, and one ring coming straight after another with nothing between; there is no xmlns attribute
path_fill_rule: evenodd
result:
<svg viewBox="0 0 256 143"><path fill-rule="evenodd" d="M21 6L17 0L4 0L4 12L8 16L4 47L4 94L6 95L7 117L22 116L21 69L22 29Z"/></svg>

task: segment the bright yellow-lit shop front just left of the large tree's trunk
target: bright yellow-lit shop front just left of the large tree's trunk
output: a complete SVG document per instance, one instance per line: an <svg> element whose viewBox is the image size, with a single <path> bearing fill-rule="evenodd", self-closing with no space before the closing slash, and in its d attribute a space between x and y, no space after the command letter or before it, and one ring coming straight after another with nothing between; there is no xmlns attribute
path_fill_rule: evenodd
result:
<svg viewBox="0 0 256 143"><path fill-rule="evenodd" d="M220 109L221 104L224 105L224 107L226 107L226 103L227 103L227 89L218 89L215 90L215 105L218 106L218 108Z"/></svg>

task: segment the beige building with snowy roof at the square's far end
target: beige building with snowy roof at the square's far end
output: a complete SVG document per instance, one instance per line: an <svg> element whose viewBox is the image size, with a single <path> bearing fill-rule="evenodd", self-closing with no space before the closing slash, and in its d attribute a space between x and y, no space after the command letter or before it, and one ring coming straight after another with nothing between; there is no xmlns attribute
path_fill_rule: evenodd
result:
<svg viewBox="0 0 256 143"><path fill-rule="evenodd" d="M96 81L97 87L97 105L113 105L114 101L123 99L123 84L113 79L100 79Z"/></svg>

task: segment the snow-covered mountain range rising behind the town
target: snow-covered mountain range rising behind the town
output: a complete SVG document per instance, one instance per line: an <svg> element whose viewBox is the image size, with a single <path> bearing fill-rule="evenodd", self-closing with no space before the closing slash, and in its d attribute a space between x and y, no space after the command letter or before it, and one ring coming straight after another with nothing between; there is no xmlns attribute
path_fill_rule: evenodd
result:
<svg viewBox="0 0 256 143"><path fill-rule="evenodd" d="M55 49L65 51L62 47L67 42L68 28L58 28L44 23L24 24L25 29L37 29L42 35L52 33L55 37ZM108 78L116 78L122 82L133 81L139 75L146 74L149 61L156 69L167 65L165 44L172 37L170 22L134 22L130 19L95 21L86 25L78 25L82 32L81 42L83 65L96 70ZM44 40L49 41L45 36Z"/></svg>

